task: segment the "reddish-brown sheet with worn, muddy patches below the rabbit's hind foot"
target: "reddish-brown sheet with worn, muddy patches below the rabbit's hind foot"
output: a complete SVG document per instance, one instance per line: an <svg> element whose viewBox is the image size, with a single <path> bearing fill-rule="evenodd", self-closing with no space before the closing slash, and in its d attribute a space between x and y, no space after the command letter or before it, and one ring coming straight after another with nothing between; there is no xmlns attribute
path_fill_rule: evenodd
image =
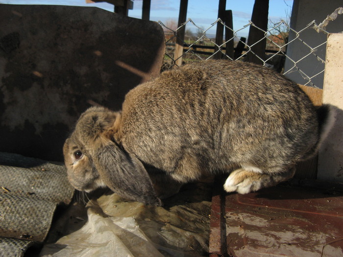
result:
<svg viewBox="0 0 343 257"><path fill-rule="evenodd" d="M343 256L342 196L341 185L278 186L246 195L214 195L210 253L213 257ZM216 219L221 223L213 222Z"/></svg>

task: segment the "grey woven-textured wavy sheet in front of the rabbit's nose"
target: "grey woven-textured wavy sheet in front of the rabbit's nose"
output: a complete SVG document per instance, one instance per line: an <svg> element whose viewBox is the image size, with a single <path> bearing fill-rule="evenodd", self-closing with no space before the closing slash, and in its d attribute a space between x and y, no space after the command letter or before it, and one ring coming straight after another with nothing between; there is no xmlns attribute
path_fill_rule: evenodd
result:
<svg viewBox="0 0 343 257"><path fill-rule="evenodd" d="M44 241L56 206L73 192L64 165L0 153L0 256L23 256L31 244L20 239Z"/></svg>

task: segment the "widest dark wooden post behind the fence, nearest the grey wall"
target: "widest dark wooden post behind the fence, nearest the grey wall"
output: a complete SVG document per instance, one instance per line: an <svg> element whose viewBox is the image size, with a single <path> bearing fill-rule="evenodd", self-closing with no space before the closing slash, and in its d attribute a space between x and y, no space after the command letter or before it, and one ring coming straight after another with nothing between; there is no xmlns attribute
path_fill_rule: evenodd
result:
<svg viewBox="0 0 343 257"><path fill-rule="evenodd" d="M252 10L251 21L260 29L267 31L268 26L268 8L269 0L255 0L254 8ZM265 60L266 55L266 42L265 32L260 29L250 25L249 36L248 36L248 46L255 44L251 50L258 55L261 59ZM263 64L263 62L255 56L252 52L247 53L247 61L257 64Z"/></svg>

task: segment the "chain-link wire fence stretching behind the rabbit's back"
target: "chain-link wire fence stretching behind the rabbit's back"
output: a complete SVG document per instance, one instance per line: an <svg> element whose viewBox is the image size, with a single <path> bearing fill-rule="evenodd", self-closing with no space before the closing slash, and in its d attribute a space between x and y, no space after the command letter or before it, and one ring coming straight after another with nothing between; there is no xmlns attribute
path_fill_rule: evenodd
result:
<svg viewBox="0 0 343 257"><path fill-rule="evenodd" d="M206 29L198 26L192 21L192 19L188 19L177 29L172 29L159 21L159 24L165 31L167 46L162 69L168 70L177 66L177 61L179 59L182 59L182 64L197 60L216 58L246 61L247 56L250 53L255 55L264 66L275 69L289 77L294 77L294 75L295 77L298 76L300 79L297 79L297 81L300 80L301 83L298 82L300 84L320 88L322 87L325 68L326 38L330 33L326 30L326 25L330 21L334 21L337 15L342 13L343 7L340 7L336 9L334 13L327 16L322 23L318 24L316 21L312 21L298 31L291 28L291 26L284 20L272 24L267 31L257 27L251 21L237 30L233 30L228 27L221 19L215 21ZM224 26L226 34L232 35L229 38L226 36L226 39L222 41L222 44L216 43L215 35L209 34L209 30L217 26L219 23ZM182 29L185 29L186 26L187 30L182 41L183 53L180 56L175 56L175 45L179 32ZM263 38L250 46L247 44L246 38L237 36L241 30L248 27L255 27L264 33ZM196 33L190 32L195 30ZM343 31L340 33L343 33ZM313 41L308 42L307 38L309 38L309 34L321 34L319 36L321 38L319 43ZM318 36L314 36L318 38ZM264 39L266 40L265 55L259 56L253 51L253 47ZM228 46L230 46L230 44L232 46L232 43L233 49L229 49ZM292 53L294 52L294 49L299 47L301 48L300 54ZM305 62L311 63L310 69L308 69L309 67Z"/></svg>

